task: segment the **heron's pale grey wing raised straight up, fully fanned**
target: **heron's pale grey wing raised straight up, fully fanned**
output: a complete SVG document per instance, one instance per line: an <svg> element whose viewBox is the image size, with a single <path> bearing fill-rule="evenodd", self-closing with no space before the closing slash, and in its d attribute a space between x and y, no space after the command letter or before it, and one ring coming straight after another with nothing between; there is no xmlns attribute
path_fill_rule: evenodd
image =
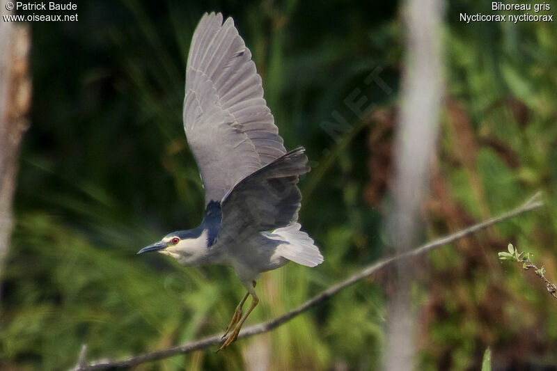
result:
<svg viewBox="0 0 557 371"><path fill-rule="evenodd" d="M285 154L261 77L232 18L203 15L191 40L184 127L205 188L205 206Z"/></svg>

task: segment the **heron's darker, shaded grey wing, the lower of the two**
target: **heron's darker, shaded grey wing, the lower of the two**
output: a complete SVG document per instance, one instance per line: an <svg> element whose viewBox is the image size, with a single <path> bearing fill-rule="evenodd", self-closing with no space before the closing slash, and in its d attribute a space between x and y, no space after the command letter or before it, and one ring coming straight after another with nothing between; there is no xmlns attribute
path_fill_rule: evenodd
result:
<svg viewBox="0 0 557 371"><path fill-rule="evenodd" d="M309 171L304 148L279 157L245 177L223 198L219 238L241 238L253 232L275 230L297 221L301 194L299 175Z"/></svg>

